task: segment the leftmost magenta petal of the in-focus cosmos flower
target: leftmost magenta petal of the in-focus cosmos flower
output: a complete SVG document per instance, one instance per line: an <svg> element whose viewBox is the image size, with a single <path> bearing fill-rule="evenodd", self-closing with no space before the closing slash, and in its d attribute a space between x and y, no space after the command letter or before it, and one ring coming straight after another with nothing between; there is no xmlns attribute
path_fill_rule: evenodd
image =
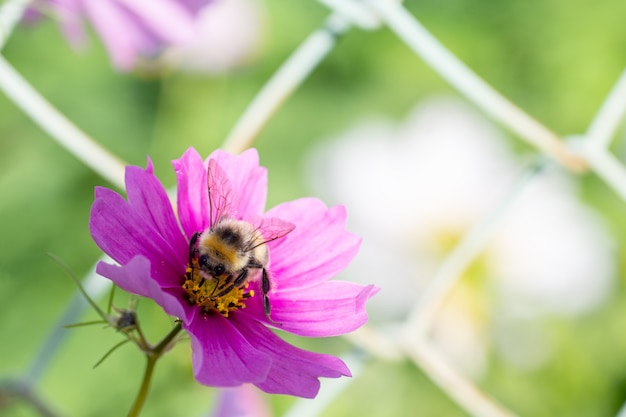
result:
<svg viewBox="0 0 626 417"><path fill-rule="evenodd" d="M160 285L180 285L186 263L180 263L180 253L170 242L119 194L96 187L95 195L89 229L100 249L122 265L143 255L150 261L152 278Z"/></svg>

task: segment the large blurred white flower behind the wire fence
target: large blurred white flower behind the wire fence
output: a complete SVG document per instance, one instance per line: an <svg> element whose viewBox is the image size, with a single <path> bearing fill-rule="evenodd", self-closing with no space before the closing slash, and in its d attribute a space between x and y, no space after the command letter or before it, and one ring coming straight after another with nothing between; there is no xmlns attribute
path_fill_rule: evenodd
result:
<svg viewBox="0 0 626 417"><path fill-rule="evenodd" d="M372 321L404 318L456 240L506 195L521 169L504 144L466 105L440 98L401 126L370 120L313 150L308 176L316 193L345 204L350 230L363 237L346 273L382 288L368 305ZM556 171L528 186L480 262L498 316L513 321L587 312L614 278L605 228ZM484 339L485 297L452 294L432 326L451 356ZM463 313L454 302L465 305ZM459 346L466 352L453 352ZM481 355L459 361L480 362Z"/></svg>

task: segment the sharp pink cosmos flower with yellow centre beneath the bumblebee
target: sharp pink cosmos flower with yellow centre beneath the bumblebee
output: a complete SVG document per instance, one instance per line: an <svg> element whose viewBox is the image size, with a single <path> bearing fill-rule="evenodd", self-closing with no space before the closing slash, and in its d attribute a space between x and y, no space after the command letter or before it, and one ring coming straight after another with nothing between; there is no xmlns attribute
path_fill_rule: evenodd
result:
<svg viewBox="0 0 626 417"><path fill-rule="evenodd" d="M367 321L365 302L378 289L329 281L360 244L345 230L345 209L303 198L264 213L267 171L258 165L255 150L240 156L218 150L202 161L190 148L173 165L177 215L150 161L146 169L127 168L127 200L96 188L91 234L119 263L101 262L97 272L128 292L154 299L181 320L202 384L252 383L269 393L312 398L318 377L349 376L340 359L289 345L268 328L323 337ZM270 288L263 288L260 265L248 265L248 276L239 283L239 272L206 268L197 245L206 244L205 236L223 221L252 225L264 240L278 236L263 245ZM218 243L227 245L227 240ZM271 318L264 308L267 289Z"/></svg>

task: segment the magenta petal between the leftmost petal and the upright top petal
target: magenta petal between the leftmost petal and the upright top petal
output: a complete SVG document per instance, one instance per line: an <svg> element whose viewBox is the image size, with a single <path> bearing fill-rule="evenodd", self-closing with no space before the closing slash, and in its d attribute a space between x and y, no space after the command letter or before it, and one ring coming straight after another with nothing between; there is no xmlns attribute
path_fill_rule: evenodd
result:
<svg viewBox="0 0 626 417"><path fill-rule="evenodd" d="M126 168L126 194L135 212L165 239L178 255L178 263L188 261L189 244L183 236L174 210L161 182L154 176L152 162L148 167Z"/></svg>

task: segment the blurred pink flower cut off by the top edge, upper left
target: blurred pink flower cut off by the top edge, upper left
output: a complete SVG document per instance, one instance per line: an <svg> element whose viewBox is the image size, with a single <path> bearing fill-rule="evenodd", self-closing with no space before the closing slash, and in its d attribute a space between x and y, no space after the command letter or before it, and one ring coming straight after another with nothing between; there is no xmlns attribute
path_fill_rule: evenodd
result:
<svg viewBox="0 0 626 417"><path fill-rule="evenodd" d="M89 21L113 64L133 67L139 55L191 40L196 13L212 0L36 0L33 10L51 10L74 46L86 42Z"/></svg>

